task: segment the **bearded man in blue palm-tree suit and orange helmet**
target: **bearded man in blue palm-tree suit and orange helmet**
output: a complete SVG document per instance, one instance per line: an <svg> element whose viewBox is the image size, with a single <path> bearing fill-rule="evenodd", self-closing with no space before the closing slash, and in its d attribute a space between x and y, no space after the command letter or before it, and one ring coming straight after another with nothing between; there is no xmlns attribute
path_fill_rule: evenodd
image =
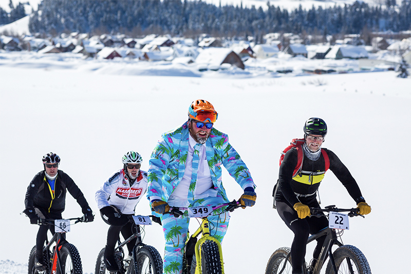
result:
<svg viewBox="0 0 411 274"><path fill-rule="evenodd" d="M214 128L217 111L205 100L189 107L189 119L180 127L162 135L155 147L148 169L147 198L161 217L165 238L164 273L178 266L182 271L184 249L190 219L175 218L170 206L215 206L229 202L221 181L221 165L244 189L242 206L253 206L256 194L250 171L228 142L228 135ZM226 234L229 214L209 216L210 233L221 242ZM178 229L178 231L176 231Z"/></svg>

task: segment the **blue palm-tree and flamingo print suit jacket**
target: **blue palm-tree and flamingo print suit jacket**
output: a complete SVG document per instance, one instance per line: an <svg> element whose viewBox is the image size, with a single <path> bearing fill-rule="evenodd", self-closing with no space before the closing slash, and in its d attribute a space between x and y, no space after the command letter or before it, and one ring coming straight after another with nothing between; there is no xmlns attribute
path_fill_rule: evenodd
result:
<svg viewBox="0 0 411 274"><path fill-rule="evenodd" d="M147 198L149 200L150 197L156 197L156 199L167 201L182 180L189 151L189 134L186 122L161 136L151 155L148 169ZM214 189L222 195L224 200L229 202L226 190L222 186L221 164L226 167L242 189L248 186L255 187L250 171L228 142L227 134L212 128L206 142L206 154Z"/></svg>

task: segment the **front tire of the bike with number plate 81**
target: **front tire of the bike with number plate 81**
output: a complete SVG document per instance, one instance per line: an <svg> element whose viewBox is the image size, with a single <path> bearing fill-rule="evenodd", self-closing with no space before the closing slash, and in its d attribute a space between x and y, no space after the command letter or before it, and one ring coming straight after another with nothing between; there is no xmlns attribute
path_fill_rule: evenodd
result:
<svg viewBox="0 0 411 274"><path fill-rule="evenodd" d="M137 270L137 271L136 271ZM129 274L162 274L163 260L156 248L145 245L137 250L136 262L130 262Z"/></svg>

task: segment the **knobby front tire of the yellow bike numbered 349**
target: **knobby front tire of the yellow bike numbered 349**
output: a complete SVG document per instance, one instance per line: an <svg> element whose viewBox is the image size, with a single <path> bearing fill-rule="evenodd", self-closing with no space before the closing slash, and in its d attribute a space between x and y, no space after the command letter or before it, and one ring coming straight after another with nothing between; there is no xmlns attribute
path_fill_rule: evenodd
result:
<svg viewBox="0 0 411 274"><path fill-rule="evenodd" d="M201 272L202 274L222 273L220 251L214 241L207 240L201 245Z"/></svg>

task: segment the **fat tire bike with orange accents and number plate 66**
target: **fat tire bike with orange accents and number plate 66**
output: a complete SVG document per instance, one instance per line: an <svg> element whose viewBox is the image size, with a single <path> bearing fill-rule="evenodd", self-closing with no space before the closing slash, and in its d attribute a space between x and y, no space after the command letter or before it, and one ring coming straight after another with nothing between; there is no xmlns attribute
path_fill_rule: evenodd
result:
<svg viewBox="0 0 411 274"><path fill-rule="evenodd" d="M82 218L70 218L64 220L76 220L74 224L84 222ZM53 219L44 219L39 225L55 225ZM46 238L46 246L43 247L43 262L45 270L35 269L36 247L30 251L28 274L83 274L81 258L76 246L66 240L66 232L55 232L50 242ZM55 244L55 245L53 245Z"/></svg>

